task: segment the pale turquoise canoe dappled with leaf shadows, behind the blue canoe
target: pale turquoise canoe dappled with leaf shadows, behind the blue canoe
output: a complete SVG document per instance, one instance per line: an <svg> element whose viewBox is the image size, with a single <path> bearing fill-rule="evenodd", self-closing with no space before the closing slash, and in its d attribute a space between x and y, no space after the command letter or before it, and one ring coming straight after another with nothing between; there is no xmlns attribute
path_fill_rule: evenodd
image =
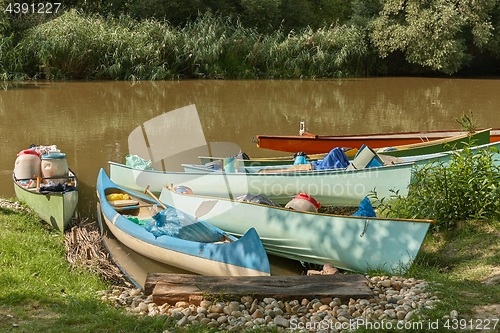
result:
<svg viewBox="0 0 500 333"><path fill-rule="evenodd" d="M404 273L433 223L302 212L169 188L159 199L236 236L255 228L270 254L363 273Z"/></svg>

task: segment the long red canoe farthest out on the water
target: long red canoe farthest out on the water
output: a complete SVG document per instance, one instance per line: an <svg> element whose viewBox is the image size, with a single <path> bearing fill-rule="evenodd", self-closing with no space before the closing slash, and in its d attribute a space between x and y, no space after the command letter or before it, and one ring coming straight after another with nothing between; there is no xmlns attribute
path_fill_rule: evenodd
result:
<svg viewBox="0 0 500 333"><path fill-rule="evenodd" d="M257 147L296 153L321 154L335 147L360 148L363 144L371 148L401 146L423 141L449 138L464 134L460 130L402 132L359 135L316 135L301 131L301 135L256 135ZM490 131L490 141L500 141L500 129Z"/></svg>

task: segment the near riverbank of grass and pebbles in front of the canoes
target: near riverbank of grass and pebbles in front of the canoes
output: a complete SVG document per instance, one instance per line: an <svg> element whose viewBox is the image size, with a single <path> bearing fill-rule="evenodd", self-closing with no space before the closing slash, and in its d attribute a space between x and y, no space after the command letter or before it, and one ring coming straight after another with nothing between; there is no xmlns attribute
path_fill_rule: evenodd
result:
<svg viewBox="0 0 500 333"><path fill-rule="evenodd" d="M287 326L293 329L292 325L300 325L303 320L311 323L327 318L323 325L351 322L363 318L365 312L365 317L378 314L379 320L395 315L393 325L406 316L425 323L422 327L403 329L385 326L385 331L436 331L432 325L438 323L441 330L463 332L452 325L461 322L475 325L473 328L485 328L489 323L491 332L493 325L499 327L500 225L496 221L464 223L459 230L430 233L406 276L370 274L378 299L352 300L347 304L338 304L335 299L297 300L288 302L289 307L270 299L245 299L238 304L227 300L224 305L217 300L196 308L188 304L155 308L140 290L116 287L88 267L68 263L66 237L16 207L19 206L15 202L0 201L0 222L4 226L0 235L0 329L5 332L234 331L253 327L255 321L262 323L253 328L256 332L281 331ZM299 312L303 316L299 317ZM292 321L294 318L297 321ZM212 320L219 326L208 325ZM230 326L232 322L235 325ZM449 329L444 327L446 322L450 323ZM188 328L188 323L200 326ZM357 331L370 328L373 327L359 326Z"/></svg>

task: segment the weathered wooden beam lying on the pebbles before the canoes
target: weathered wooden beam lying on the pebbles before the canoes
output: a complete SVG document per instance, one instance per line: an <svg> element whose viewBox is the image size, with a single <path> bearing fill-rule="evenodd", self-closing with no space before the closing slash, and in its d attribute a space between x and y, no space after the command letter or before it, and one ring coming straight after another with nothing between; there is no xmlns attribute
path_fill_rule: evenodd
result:
<svg viewBox="0 0 500 333"><path fill-rule="evenodd" d="M368 280L359 274L220 277L149 273L144 291L152 295L158 305L173 305L178 301L197 304L203 297L221 295L228 298L251 295L283 301L329 297L348 301L373 297Z"/></svg>

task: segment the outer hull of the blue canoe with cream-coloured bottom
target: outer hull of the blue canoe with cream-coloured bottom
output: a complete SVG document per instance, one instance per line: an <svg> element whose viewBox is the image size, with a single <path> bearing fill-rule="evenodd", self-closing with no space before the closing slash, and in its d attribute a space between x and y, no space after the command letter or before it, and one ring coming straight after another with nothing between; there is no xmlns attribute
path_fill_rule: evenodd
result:
<svg viewBox="0 0 500 333"><path fill-rule="evenodd" d="M107 188L121 189L113 184L101 169L96 187L100 215L113 235L137 253L202 275L270 275L267 254L254 229L247 229L239 240L233 239L233 242L221 244L194 242L166 235L156 238L144 227L119 214L109 204L105 199ZM155 203L151 199L140 198L143 202ZM224 233L220 229L217 230Z"/></svg>

